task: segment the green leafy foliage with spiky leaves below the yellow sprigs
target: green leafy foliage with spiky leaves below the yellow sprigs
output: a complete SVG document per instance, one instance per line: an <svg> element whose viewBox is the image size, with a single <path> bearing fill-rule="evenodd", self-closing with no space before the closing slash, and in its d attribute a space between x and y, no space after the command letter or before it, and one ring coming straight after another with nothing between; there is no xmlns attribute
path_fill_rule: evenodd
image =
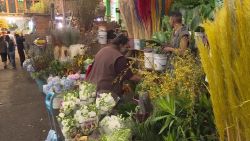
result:
<svg viewBox="0 0 250 141"><path fill-rule="evenodd" d="M217 134L209 98L194 102L188 96L167 95L155 99L154 113L143 123L134 123L136 140L216 141Z"/></svg>

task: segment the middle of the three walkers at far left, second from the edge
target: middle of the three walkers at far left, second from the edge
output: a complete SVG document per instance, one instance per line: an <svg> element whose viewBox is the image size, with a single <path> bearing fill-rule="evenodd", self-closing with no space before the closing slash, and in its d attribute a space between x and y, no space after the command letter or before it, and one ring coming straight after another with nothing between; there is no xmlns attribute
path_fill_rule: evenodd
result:
<svg viewBox="0 0 250 141"><path fill-rule="evenodd" d="M5 36L5 41L7 42L8 54L10 56L10 62L12 64L13 69L16 69L16 61L15 61L15 44L14 41L10 39L9 35Z"/></svg>

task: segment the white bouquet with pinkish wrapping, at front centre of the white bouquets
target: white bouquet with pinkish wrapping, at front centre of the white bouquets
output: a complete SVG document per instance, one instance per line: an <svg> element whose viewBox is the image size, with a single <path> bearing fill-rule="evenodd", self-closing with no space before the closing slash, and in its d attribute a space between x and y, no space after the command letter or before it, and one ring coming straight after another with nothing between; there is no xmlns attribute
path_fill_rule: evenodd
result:
<svg viewBox="0 0 250 141"><path fill-rule="evenodd" d="M82 106L76 111L74 119L84 135L89 135L98 126L98 115L95 105Z"/></svg>

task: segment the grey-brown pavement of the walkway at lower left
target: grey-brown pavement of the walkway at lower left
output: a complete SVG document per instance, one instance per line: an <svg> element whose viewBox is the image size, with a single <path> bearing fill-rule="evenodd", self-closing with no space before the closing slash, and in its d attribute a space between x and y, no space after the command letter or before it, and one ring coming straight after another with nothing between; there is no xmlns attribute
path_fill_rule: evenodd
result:
<svg viewBox="0 0 250 141"><path fill-rule="evenodd" d="M49 129L44 96L16 61L17 70L3 70L0 62L0 141L44 141Z"/></svg>

